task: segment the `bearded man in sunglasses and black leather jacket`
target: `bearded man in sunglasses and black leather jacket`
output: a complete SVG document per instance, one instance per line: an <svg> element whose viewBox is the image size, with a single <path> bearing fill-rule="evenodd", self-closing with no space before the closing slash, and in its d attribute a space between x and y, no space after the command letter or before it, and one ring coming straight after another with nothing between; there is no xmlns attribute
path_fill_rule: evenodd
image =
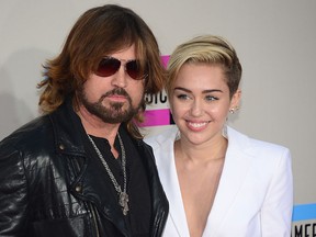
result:
<svg viewBox="0 0 316 237"><path fill-rule="evenodd" d="M43 116L0 143L0 236L160 236L168 202L136 126L165 77L150 29L88 10L44 76Z"/></svg>

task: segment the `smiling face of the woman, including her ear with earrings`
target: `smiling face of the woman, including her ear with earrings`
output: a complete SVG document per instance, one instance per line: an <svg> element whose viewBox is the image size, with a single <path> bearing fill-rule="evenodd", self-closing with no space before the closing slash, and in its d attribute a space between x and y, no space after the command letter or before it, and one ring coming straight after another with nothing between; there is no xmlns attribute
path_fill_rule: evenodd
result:
<svg viewBox="0 0 316 237"><path fill-rule="evenodd" d="M200 145L223 138L229 109L238 105L240 91L229 98L218 65L184 64L172 87L170 108L181 139Z"/></svg>

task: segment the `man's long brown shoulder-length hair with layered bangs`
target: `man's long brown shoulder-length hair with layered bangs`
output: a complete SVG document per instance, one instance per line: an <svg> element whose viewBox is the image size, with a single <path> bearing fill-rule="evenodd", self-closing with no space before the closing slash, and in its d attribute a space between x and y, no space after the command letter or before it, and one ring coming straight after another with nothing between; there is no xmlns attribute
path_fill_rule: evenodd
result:
<svg viewBox="0 0 316 237"><path fill-rule="evenodd" d="M105 4L84 12L70 31L61 53L44 65L44 80L40 109L43 113L55 111L69 94L82 87L88 76L97 69L104 55L135 45L136 57L146 70L145 91L157 93L166 77L155 35L134 11L115 4ZM145 110L145 100L143 110ZM134 121L142 122L142 111L127 122L134 137L142 137Z"/></svg>

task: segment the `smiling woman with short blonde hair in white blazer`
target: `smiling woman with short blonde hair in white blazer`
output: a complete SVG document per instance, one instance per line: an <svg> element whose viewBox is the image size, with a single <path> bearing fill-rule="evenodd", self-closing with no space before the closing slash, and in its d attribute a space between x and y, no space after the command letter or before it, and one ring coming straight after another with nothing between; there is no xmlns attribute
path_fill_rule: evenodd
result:
<svg viewBox="0 0 316 237"><path fill-rule="evenodd" d="M163 236L290 236L289 149L226 126L241 95L233 46L218 36L195 37L176 48L168 71L177 127L146 138L170 203Z"/></svg>

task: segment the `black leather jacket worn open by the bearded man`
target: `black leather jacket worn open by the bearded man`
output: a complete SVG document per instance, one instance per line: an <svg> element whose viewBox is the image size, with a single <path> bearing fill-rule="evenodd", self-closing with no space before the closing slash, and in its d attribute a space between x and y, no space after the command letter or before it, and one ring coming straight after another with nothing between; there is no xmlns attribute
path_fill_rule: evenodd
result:
<svg viewBox="0 0 316 237"><path fill-rule="evenodd" d="M70 110L68 102L0 143L0 236L131 236L116 199L100 185L100 166L86 155ZM135 144L150 178L150 236L161 236L168 202L151 148Z"/></svg>

